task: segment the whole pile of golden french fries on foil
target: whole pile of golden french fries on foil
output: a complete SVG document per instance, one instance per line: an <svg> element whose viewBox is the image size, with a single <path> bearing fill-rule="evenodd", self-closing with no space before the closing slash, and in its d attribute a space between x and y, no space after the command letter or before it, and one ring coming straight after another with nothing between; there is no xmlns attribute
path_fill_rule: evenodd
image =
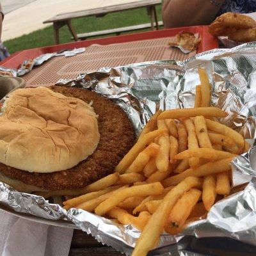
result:
<svg viewBox="0 0 256 256"><path fill-rule="evenodd" d="M162 232L179 234L205 218L230 194L230 161L250 145L218 122L225 111L210 106L211 85L198 69L195 108L157 111L113 173L89 193L63 202L140 229L132 255L147 255Z"/></svg>

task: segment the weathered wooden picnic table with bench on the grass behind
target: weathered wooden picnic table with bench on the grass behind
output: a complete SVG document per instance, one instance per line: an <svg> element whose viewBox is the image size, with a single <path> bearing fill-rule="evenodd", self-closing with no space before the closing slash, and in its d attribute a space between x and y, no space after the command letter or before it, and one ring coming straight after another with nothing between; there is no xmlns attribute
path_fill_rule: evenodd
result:
<svg viewBox="0 0 256 256"><path fill-rule="evenodd" d="M120 35L120 33L125 31L131 31L136 29L142 28L150 28L154 30L155 26L156 29L159 29L159 22L157 20L157 13L156 13L156 6L157 4L161 4L161 0L140 0L134 1L132 3L123 3L123 4L115 4L111 6L106 6L102 8L93 8L89 10L81 10L77 12L69 12L69 13L61 13L58 14L51 19L45 20L43 23L53 23L53 33L54 33L54 43L60 44L60 36L59 30L63 26L68 26L68 29L73 36L75 41L78 41L81 38L88 38L90 36L98 36L98 35L107 35L111 33L115 33L116 35ZM75 29L72 27L71 20L80 18L80 17L88 17L88 16L96 16L96 17L104 17L108 13L113 12L120 12L124 10L131 10L135 8L146 7L148 10L148 15L150 15L150 23L147 24L140 24L136 26L129 26L124 28L116 28L116 29L107 29L102 31L95 31L91 33L83 33L78 34L76 33ZM163 24L163 22L161 22Z"/></svg>

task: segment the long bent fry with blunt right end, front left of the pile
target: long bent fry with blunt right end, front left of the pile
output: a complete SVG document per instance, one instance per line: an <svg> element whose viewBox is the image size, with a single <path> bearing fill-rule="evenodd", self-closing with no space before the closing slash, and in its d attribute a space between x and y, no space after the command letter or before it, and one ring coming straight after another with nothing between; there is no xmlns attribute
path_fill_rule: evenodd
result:
<svg viewBox="0 0 256 256"><path fill-rule="evenodd" d="M122 191L117 191L113 196L106 199L100 205L95 208L95 213L99 216L102 216L110 209L116 205L123 202L126 198L131 196L149 196L149 195L160 195L163 193L164 188L160 182L132 186L130 188L125 188Z"/></svg>

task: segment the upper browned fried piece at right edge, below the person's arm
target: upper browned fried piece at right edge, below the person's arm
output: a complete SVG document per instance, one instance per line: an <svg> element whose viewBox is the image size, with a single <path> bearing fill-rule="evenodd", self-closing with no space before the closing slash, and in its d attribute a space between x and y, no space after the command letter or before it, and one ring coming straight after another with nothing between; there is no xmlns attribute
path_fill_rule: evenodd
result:
<svg viewBox="0 0 256 256"><path fill-rule="evenodd" d="M213 36L230 36L239 29L256 27L256 22L251 17L240 13L223 13L209 26L209 32Z"/></svg>

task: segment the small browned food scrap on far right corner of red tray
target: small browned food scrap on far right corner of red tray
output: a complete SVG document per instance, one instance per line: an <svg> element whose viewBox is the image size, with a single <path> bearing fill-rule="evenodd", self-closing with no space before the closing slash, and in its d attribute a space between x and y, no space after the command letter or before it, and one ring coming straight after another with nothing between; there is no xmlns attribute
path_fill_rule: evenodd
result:
<svg viewBox="0 0 256 256"><path fill-rule="evenodd" d="M195 51L200 44L201 39L195 36L193 33L181 31L175 36L175 41L170 41L170 46L179 46L189 52Z"/></svg>

